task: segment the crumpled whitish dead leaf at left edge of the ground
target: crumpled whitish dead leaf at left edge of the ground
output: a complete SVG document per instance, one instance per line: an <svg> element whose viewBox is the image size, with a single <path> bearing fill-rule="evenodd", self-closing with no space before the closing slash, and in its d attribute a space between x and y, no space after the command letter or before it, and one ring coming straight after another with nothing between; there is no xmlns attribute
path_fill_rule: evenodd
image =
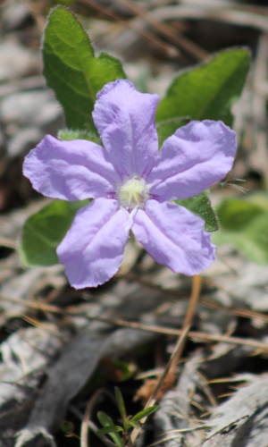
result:
<svg viewBox="0 0 268 447"><path fill-rule="evenodd" d="M13 446L14 435L29 417L46 379L46 369L66 342L55 325L21 328L1 345L0 445Z"/></svg>

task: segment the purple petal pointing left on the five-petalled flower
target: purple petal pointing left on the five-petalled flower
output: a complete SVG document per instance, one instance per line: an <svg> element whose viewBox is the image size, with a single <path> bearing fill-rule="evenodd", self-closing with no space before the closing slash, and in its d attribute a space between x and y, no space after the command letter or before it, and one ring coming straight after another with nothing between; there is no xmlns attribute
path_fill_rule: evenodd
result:
<svg viewBox="0 0 268 447"><path fill-rule="evenodd" d="M65 200L107 197L120 177L105 149L84 139L46 135L25 157L23 173L38 192Z"/></svg>

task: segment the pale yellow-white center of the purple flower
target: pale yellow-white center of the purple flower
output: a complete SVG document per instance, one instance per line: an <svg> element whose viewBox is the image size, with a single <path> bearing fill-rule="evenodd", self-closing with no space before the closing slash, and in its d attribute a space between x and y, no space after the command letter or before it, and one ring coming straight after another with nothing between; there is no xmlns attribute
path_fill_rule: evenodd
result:
<svg viewBox="0 0 268 447"><path fill-rule="evenodd" d="M118 189L118 198L121 206L127 209L144 207L149 198L146 181L137 177L124 181Z"/></svg>

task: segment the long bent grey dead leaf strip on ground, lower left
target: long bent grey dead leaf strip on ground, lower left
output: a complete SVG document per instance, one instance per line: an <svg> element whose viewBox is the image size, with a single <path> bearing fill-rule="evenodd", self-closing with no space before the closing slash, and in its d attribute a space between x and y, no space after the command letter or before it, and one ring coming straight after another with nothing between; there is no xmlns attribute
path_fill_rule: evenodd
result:
<svg viewBox="0 0 268 447"><path fill-rule="evenodd" d="M133 329L94 332L89 325L66 346L61 358L48 370L47 383L30 414L29 423L18 436L16 447L22 447L25 439L34 442L37 436L51 433L63 418L69 401L88 382L102 358L117 358L154 339L152 333Z"/></svg>

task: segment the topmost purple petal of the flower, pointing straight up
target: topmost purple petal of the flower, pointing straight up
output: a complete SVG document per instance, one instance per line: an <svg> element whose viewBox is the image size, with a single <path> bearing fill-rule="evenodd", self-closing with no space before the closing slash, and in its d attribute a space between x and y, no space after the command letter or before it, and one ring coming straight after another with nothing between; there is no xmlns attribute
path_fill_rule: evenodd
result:
<svg viewBox="0 0 268 447"><path fill-rule="evenodd" d="M145 176L155 165L157 95L139 93L129 80L115 80L96 96L93 119L121 180Z"/></svg>

